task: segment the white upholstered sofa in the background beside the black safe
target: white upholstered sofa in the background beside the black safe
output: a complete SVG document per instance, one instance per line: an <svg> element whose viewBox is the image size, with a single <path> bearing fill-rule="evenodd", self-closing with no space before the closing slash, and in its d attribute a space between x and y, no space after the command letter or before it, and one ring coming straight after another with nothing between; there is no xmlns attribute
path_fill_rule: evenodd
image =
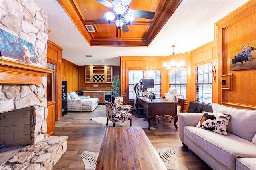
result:
<svg viewBox="0 0 256 170"><path fill-rule="evenodd" d="M90 98L90 96L78 96L74 91L67 95L68 111L90 112L99 105L98 98Z"/></svg>

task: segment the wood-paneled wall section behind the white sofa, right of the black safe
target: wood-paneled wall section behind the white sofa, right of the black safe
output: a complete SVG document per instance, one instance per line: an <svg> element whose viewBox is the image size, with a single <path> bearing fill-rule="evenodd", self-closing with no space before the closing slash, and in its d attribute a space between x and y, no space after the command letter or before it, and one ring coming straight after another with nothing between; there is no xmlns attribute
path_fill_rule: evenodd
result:
<svg viewBox="0 0 256 170"><path fill-rule="evenodd" d="M62 58L61 77L68 82L68 92L78 91L78 65Z"/></svg>

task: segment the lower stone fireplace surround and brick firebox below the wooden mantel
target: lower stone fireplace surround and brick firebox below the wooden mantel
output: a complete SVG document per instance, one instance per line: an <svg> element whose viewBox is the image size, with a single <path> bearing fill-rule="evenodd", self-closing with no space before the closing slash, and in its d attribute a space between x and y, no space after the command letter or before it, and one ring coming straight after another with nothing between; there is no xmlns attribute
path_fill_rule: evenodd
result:
<svg viewBox="0 0 256 170"><path fill-rule="evenodd" d="M44 85L6 84L0 89L1 146L26 146L46 138Z"/></svg>

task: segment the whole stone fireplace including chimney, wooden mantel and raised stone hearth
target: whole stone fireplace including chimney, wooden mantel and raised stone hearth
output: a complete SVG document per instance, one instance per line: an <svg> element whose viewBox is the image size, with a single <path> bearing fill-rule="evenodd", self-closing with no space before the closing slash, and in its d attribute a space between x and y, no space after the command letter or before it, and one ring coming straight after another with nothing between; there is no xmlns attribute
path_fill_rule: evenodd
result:
<svg viewBox="0 0 256 170"><path fill-rule="evenodd" d="M1 0L0 8L0 28L32 43L36 57L36 64L0 57L0 169L50 170L68 137L47 136L47 14L33 0ZM12 146L24 147L6 158L3 150Z"/></svg>

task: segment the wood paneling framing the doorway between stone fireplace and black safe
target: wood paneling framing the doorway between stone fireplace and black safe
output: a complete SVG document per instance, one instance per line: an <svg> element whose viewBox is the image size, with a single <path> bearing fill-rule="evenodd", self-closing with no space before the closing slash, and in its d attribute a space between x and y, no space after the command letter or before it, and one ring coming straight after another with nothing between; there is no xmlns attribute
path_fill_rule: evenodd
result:
<svg viewBox="0 0 256 170"><path fill-rule="evenodd" d="M55 43L47 40L47 62L56 65L56 85L55 85L55 100L56 102L56 112L55 120L61 119L61 52L62 48Z"/></svg>

